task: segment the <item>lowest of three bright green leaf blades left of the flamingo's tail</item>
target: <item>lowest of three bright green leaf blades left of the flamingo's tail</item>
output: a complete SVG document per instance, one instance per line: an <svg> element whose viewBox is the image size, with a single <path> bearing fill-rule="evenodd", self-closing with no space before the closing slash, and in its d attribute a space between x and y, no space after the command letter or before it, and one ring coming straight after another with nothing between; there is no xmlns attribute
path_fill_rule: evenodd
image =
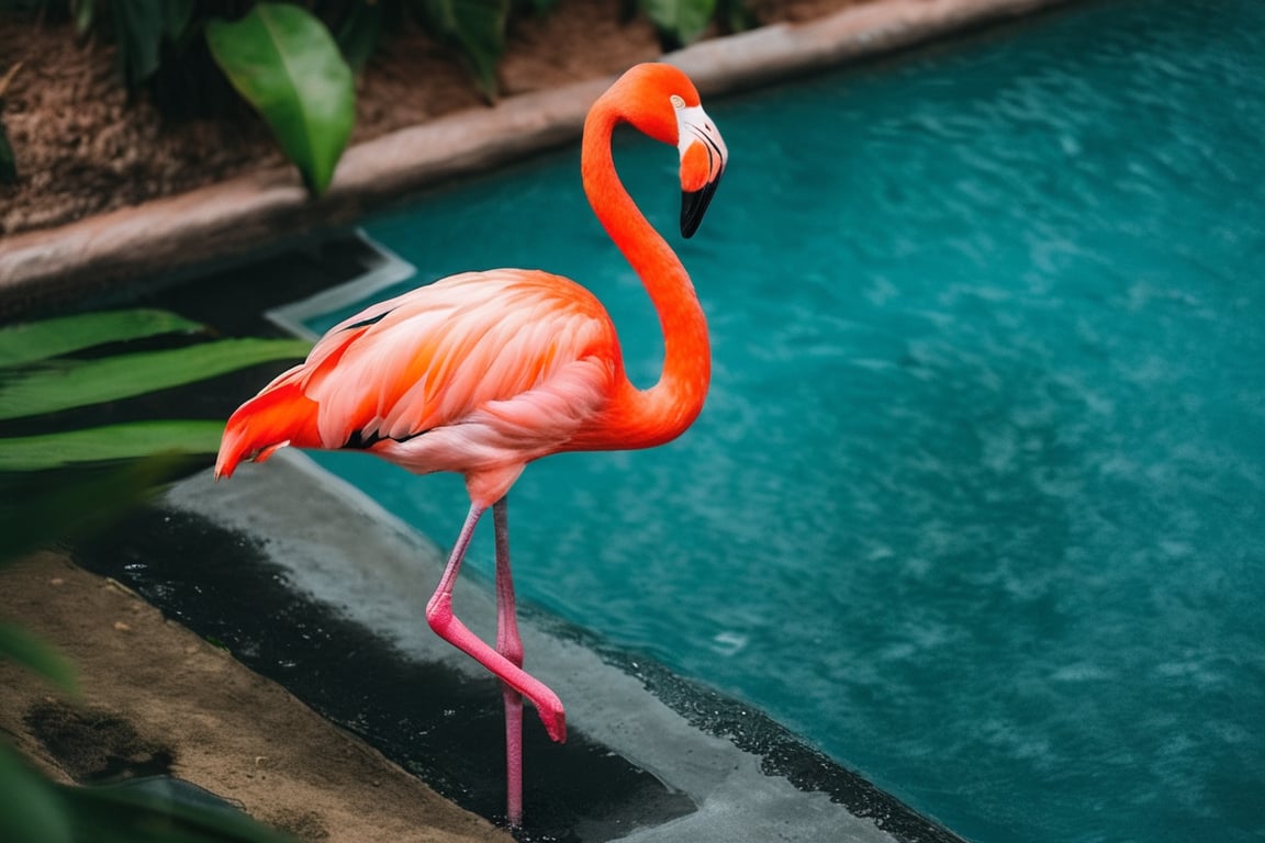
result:
<svg viewBox="0 0 1265 843"><path fill-rule="evenodd" d="M0 439L0 471L42 471L75 463L134 460L161 451L214 454L224 423L143 421L63 434Z"/></svg>

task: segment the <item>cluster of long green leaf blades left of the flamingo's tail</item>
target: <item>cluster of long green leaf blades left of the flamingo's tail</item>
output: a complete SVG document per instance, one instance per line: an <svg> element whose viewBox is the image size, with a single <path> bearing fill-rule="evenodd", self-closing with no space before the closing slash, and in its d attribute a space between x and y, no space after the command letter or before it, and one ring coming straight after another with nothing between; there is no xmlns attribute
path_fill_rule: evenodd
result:
<svg viewBox="0 0 1265 843"><path fill-rule="evenodd" d="M156 339L167 348L152 348ZM85 407L307 349L301 340L214 339L197 322L144 308L0 327L0 565L108 523L192 456L214 454L224 427L201 418L75 423Z"/></svg>

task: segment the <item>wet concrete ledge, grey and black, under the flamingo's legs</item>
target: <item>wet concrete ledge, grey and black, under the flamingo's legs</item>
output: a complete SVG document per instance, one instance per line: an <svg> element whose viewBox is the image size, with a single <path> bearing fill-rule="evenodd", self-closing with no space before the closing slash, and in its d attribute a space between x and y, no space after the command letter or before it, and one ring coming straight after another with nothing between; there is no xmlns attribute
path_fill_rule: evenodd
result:
<svg viewBox="0 0 1265 843"><path fill-rule="evenodd" d="M195 474L75 559L459 806L503 811L500 688L421 617L443 552L306 455ZM488 640L478 580L454 605ZM529 707L520 840L961 843L750 707L530 609L521 632L569 736L550 743Z"/></svg>

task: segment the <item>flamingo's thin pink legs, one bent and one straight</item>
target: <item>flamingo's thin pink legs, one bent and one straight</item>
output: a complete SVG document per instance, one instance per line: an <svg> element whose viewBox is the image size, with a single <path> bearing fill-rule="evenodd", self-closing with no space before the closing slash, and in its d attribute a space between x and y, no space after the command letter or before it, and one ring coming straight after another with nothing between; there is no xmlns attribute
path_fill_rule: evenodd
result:
<svg viewBox="0 0 1265 843"><path fill-rule="evenodd" d="M505 502L502 500L501 507L501 528L497 530L498 545L505 536ZM536 707L536 713L540 715L540 720L545 725L545 732L549 737L559 743L567 739L567 715L562 707L562 700L558 695L553 693L544 682L541 682L535 676L531 676L521 667L522 661L522 643L519 640L517 623L514 621L514 591L512 585L509 583L510 567L509 567L509 545L507 536L506 549L502 554L500 546L497 547L497 616L498 627L497 645L506 650L514 660L497 652L483 642L478 636L469 631L469 628L460 622L460 619L453 614L453 585L457 583L457 574L460 571L462 560L466 559L466 550L469 547L471 537L474 535L474 527L478 525L479 516L486 512L486 507L479 507L478 504L472 504L469 514L466 516L466 523L462 526L462 532L457 537L457 543L453 545L453 552L448 557L448 565L444 567L444 574L439 579L439 586L431 595L430 602L426 604L426 623L435 633L453 645L462 652L467 653L474 661L487 667L492 671L506 686L506 715L510 717L510 699L509 694L512 691L515 695L526 696L531 700L531 704ZM498 521L496 514L496 507L493 507L492 514L493 525ZM501 560L505 560L502 565ZM503 578L501 569L503 567ZM503 599L502 593L502 579L506 581L503 586L509 593L509 602ZM509 621L506 619L509 617ZM515 650L517 652L515 652ZM519 664L515 664L517 661ZM517 700L519 705L519 723L521 723L521 699ZM509 731L509 725L507 725ZM519 731L521 736L521 729ZM517 749L515 751L514 743L507 748L509 753L516 752L521 758L522 743L521 737L519 738ZM521 767L520 767L521 770ZM511 770L511 787L515 772ZM521 772L519 776L519 790L520 790L520 813L521 813ZM512 822L512 819L511 819Z"/></svg>

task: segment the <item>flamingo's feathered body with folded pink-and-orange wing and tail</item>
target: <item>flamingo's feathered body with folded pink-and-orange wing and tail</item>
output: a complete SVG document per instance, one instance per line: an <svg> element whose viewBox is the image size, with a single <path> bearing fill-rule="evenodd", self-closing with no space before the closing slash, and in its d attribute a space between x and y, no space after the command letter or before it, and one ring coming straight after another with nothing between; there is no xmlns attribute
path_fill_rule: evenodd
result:
<svg viewBox="0 0 1265 843"><path fill-rule="evenodd" d="M369 449L417 473L516 478L601 412L617 349L605 308L565 278L452 276L334 326L234 413L216 473L288 444Z"/></svg>

